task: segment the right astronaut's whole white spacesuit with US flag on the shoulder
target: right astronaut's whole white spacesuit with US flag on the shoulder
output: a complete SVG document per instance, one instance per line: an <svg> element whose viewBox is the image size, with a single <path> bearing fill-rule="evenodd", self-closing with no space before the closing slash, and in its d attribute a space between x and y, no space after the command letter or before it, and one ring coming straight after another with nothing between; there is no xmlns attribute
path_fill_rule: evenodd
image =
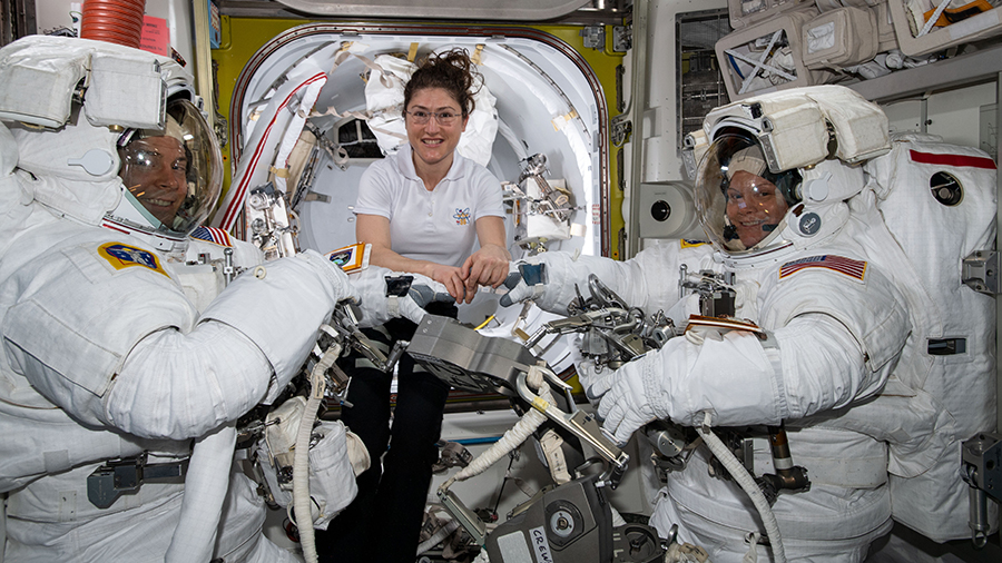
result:
<svg viewBox="0 0 1002 563"><path fill-rule="evenodd" d="M880 214L872 203L851 205L867 185L859 165L890 150L887 130L876 106L841 87L718 108L694 135L697 210L710 244L660 241L625 263L543 254L527 263L544 264L548 280L511 284L505 300L564 313L574 285L593 273L627 304L686 327L713 296L700 302L680 288L715 279L734 296L731 315L756 325L692 323L619 369L579 369L603 428L621 442L671 421L750 441L743 462L756 476L806 468L809 486L778 491L765 511L706 447L668 474L652 525L667 537L677 524L678 540L715 562L752 550L772 561L862 561L892 526L888 472L922 473L955 446L941 432L949 415L895 374L910 353L907 299L877 245L864 244L886 233ZM768 427L780 425L792 461L774 466ZM778 530L768 531L768 512Z"/></svg>

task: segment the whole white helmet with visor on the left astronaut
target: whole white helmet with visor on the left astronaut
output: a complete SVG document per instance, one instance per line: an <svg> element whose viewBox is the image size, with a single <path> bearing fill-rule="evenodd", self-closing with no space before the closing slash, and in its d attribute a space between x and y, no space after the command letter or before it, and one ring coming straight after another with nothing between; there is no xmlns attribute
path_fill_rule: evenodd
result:
<svg viewBox="0 0 1002 563"><path fill-rule="evenodd" d="M168 57L104 41L28 36L0 48L0 119L18 168L45 179L61 211L161 250L179 247L222 188L191 83ZM176 196L154 178L158 167Z"/></svg>

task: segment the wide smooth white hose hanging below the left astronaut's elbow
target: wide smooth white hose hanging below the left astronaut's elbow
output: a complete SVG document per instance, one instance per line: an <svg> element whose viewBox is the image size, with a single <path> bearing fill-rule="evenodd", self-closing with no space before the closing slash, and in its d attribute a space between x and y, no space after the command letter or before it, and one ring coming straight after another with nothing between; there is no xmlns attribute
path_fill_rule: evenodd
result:
<svg viewBox="0 0 1002 563"><path fill-rule="evenodd" d="M235 421L195 441L185 476L180 517L164 555L166 563L213 559L223 502L229 491L235 445Z"/></svg>

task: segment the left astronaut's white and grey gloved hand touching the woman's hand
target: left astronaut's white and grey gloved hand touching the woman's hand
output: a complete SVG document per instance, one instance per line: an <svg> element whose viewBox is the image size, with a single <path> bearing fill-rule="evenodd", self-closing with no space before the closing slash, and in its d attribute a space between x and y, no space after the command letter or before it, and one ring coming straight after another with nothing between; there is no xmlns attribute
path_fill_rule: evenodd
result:
<svg viewBox="0 0 1002 563"><path fill-rule="evenodd" d="M410 277L410 284L407 284ZM390 282L387 282L390 278ZM401 274L380 266L370 266L348 276L358 294L362 318L358 326L380 326L391 318L405 317L420 324L432 302L454 299L445 286L421 274Z"/></svg>

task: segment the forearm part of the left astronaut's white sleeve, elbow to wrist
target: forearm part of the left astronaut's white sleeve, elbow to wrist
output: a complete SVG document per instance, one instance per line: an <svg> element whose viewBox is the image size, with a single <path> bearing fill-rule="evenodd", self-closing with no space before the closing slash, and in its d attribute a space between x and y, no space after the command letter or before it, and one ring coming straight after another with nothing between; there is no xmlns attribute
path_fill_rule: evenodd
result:
<svg viewBox="0 0 1002 563"><path fill-rule="evenodd" d="M314 251L248 270L194 330L136 346L106 401L108 417L131 434L173 438L236 419L298 373L318 327L352 294L347 276Z"/></svg>

